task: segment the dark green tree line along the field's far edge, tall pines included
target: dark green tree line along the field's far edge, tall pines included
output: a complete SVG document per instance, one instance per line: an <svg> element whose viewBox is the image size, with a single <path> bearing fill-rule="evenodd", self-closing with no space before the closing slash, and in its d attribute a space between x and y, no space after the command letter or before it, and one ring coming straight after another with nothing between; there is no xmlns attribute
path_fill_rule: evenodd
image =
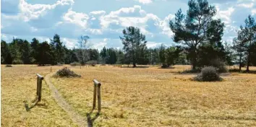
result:
<svg viewBox="0 0 256 127"><path fill-rule="evenodd" d="M7 43L1 40L1 64L87 64L94 61L100 64L162 64L168 67L174 64L192 64L192 69L216 64L239 64L239 69L246 65L256 66L256 23L249 15L245 25L237 30L237 37L232 44L222 41L224 23L213 18L216 7L206 0L189 0L186 13L179 9L169 28L174 32L172 40L179 46L161 45L148 48L145 35L138 27L127 27L119 37L124 45L122 49L106 48L101 51L90 48L90 37L82 35L77 47L68 49L54 35L51 42L40 43L36 38L31 42L14 38ZM90 63L90 62L89 62Z"/></svg>

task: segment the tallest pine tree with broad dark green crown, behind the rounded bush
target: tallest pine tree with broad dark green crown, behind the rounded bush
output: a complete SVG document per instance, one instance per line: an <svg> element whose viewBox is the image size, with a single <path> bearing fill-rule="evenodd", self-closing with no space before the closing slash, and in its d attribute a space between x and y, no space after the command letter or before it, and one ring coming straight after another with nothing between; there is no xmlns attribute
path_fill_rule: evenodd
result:
<svg viewBox="0 0 256 127"><path fill-rule="evenodd" d="M198 47L202 43L218 43L223 35L221 19L213 19L216 15L215 6L210 6L208 1L189 0L187 15L179 9L175 14L174 22L169 25L174 32L173 40L187 46L189 59L193 69L197 68Z"/></svg>

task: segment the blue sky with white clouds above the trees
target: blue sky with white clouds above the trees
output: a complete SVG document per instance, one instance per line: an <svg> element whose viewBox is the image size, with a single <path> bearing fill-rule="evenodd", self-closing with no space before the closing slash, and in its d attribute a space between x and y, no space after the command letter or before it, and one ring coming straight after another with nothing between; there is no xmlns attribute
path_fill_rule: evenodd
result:
<svg viewBox="0 0 256 127"><path fill-rule="evenodd" d="M216 18L225 22L227 42L249 14L256 19L256 0L208 1L218 10ZM80 35L89 35L92 48L121 48L121 30L132 25L146 35L148 47L173 45L168 22L187 7L185 0L1 0L1 39L42 42L57 33L73 48Z"/></svg>

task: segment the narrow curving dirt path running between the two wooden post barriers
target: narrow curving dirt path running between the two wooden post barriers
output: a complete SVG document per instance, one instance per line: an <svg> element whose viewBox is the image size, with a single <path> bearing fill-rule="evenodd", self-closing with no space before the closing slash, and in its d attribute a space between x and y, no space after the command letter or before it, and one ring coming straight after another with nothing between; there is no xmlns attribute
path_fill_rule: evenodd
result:
<svg viewBox="0 0 256 127"><path fill-rule="evenodd" d="M76 113L73 110L72 106L69 105L63 97L61 97L61 94L58 92L56 87L54 87L54 84L51 83L50 78L53 74L54 73L47 74L45 80L49 88L51 89L51 93L58 105L60 105L61 108L63 108L68 113L69 117L72 118L72 121L74 121L77 126L88 126L87 118L82 117L82 115Z"/></svg>

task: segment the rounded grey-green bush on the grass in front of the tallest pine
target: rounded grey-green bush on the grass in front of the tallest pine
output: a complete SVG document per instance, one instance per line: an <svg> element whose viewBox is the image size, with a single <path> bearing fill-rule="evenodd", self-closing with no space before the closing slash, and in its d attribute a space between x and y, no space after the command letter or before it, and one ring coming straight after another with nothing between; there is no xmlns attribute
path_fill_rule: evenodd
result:
<svg viewBox="0 0 256 127"><path fill-rule="evenodd" d="M195 76L195 80L200 82L213 82L213 81L221 81L221 77L218 74L215 67L207 66L202 69L200 74Z"/></svg>

